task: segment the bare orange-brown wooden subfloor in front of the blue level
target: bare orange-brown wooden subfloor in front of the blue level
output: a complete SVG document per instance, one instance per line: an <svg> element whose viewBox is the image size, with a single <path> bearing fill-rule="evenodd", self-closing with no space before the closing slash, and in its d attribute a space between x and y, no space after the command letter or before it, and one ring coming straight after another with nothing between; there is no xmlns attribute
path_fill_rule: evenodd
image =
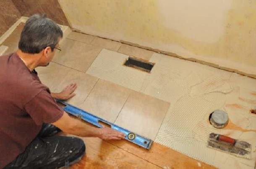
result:
<svg viewBox="0 0 256 169"><path fill-rule="evenodd" d="M153 143L152 148L146 150L126 140L82 139L86 144L86 155L81 161L73 164L72 169L214 168L157 143Z"/></svg>

